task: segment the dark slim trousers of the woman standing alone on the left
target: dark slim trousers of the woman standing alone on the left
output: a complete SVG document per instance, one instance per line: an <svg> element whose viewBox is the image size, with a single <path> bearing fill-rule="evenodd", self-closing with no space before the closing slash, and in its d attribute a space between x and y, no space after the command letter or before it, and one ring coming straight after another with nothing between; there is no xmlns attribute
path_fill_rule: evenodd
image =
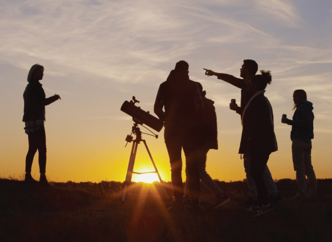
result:
<svg viewBox="0 0 332 242"><path fill-rule="evenodd" d="M46 172L46 136L44 126L40 127L37 131L28 133L29 150L26 157L26 172L31 172L33 157L38 150L39 157L39 171L40 173Z"/></svg>

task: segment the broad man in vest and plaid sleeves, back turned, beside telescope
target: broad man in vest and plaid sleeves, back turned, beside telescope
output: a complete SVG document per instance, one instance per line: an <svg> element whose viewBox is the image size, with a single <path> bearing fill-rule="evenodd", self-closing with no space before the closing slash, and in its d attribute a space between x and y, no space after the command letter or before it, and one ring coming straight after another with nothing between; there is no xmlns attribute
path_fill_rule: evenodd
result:
<svg viewBox="0 0 332 242"><path fill-rule="evenodd" d="M189 65L179 61L158 90L154 104L155 114L165 122L164 139L170 156L171 179L175 204L183 206L182 159L183 148L190 177L192 204L199 209L200 181L195 152L198 148L198 128L204 103L196 82L189 79ZM163 107L165 111L163 111Z"/></svg>

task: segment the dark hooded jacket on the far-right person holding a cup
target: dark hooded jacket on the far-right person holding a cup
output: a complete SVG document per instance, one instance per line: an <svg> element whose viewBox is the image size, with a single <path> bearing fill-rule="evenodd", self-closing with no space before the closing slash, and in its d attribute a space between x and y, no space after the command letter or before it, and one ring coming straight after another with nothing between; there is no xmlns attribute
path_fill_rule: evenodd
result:
<svg viewBox="0 0 332 242"><path fill-rule="evenodd" d="M314 139L314 113L313 103L301 101L297 105L293 115L293 120L288 120L287 124L292 125L291 140L294 138Z"/></svg>

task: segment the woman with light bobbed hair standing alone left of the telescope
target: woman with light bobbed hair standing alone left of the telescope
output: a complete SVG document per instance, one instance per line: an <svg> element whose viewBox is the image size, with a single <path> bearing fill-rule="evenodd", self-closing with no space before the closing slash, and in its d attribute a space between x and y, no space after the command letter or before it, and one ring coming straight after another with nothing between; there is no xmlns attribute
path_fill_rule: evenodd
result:
<svg viewBox="0 0 332 242"><path fill-rule="evenodd" d="M39 80L43 78L44 67L35 64L31 67L28 74L28 85L23 93L24 99L24 115L23 122L25 122L26 133L29 140L29 150L26 158L26 183L38 183L31 176L31 167L33 163L33 157L36 151L39 153L39 171L40 180L39 183L44 186L52 186L46 179L46 136L45 136L45 105L49 105L52 102L60 98L59 95L46 98L45 92ZM60 98L61 99L61 98Z"/></svg>

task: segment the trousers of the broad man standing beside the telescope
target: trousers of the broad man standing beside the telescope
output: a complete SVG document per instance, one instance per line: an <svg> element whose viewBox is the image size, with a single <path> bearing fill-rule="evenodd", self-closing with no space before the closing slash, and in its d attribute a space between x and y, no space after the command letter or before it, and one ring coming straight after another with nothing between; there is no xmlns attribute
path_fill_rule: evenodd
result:
<svg viewBox="0 0 332 242"><path fill-rule="evenodd" d="M191 187L192 202L198 203L200 197L200 178L198 171L199 154L196 152L197 142L186 136L172 136L165 139L167 151L170 156L171 179L173 185L173 196L177 203L183 202L183 182L182 182L182 158L181 151L185 155L185 163L189 176L189 186Z"/></svg>

